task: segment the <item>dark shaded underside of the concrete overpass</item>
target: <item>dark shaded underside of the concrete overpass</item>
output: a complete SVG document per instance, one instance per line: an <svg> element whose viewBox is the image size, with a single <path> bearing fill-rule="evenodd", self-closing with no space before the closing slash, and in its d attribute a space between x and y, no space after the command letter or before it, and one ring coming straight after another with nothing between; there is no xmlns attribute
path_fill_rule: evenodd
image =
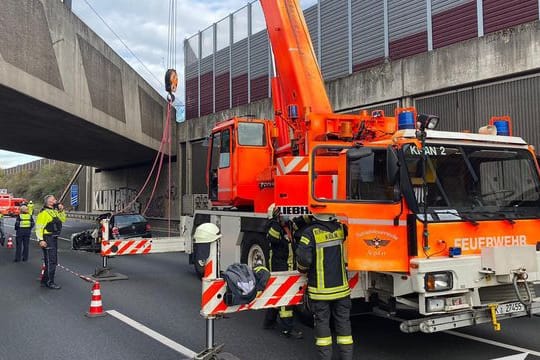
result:
<svg viewBox="0 0 540 360"><path fill-rule="evenodd" d="M0 149L101 169L148 163L156 154L4 86L0 86Z"/></svg>

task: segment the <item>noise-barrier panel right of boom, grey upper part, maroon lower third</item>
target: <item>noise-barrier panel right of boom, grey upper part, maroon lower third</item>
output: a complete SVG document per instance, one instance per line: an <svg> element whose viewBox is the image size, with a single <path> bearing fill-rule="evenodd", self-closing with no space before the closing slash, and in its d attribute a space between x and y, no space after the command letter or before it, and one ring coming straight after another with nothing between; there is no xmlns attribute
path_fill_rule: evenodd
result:
<svg viewBox="0 0 540 360"><path fill-rule="evenodd" d="M389 1L388 29L391 59L399 59L427 51L426 1Z"/></svg>

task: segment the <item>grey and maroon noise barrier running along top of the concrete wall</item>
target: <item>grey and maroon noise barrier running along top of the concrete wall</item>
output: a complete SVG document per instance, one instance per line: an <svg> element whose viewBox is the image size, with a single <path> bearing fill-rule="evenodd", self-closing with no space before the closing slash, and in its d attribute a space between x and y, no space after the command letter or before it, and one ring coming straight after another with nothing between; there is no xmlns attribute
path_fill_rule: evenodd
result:
<svg viewBox="0 0 540 360"><path fill-rule="evenodd" d="M306 2L302 2L306 4ZM311 0L304 10L325 80L539 18L540 0ZM184 42L186 119L270 96L258 1ZM358 104L362 105L362 104Z"/></svg>

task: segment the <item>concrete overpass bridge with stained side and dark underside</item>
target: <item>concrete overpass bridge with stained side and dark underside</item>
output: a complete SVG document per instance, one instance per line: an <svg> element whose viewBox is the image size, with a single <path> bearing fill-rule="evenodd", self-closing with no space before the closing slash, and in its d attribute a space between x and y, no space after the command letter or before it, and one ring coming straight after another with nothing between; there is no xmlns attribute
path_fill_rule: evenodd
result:
<svg viewBox="0 0 540 360"><path fill-rule="evenodd" d="M61 1L1 9L0 148L101 169L151 162L165 100Z"/></svg>

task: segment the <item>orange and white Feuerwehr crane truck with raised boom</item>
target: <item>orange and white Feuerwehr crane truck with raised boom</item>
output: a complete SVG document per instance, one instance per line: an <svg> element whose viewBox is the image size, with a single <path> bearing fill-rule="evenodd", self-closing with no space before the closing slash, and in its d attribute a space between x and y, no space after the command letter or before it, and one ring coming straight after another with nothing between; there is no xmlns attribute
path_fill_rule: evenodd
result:
<svg viewBox="0 0 540 360"><path fill-rule="evenodd" d="M190 235L205 222L223 234L220 270L267 261L264 214L275 203L291 217L332 213L347 224L352 297L417 312L404 332L499 330L501 320L540 313L539 168L510 118L460 133L435 130L438 117L412 107L333 113L298 1L261 5L275 117L212 129L206 177L216 210L183 219L197 271L209 248Z"/></svg>

